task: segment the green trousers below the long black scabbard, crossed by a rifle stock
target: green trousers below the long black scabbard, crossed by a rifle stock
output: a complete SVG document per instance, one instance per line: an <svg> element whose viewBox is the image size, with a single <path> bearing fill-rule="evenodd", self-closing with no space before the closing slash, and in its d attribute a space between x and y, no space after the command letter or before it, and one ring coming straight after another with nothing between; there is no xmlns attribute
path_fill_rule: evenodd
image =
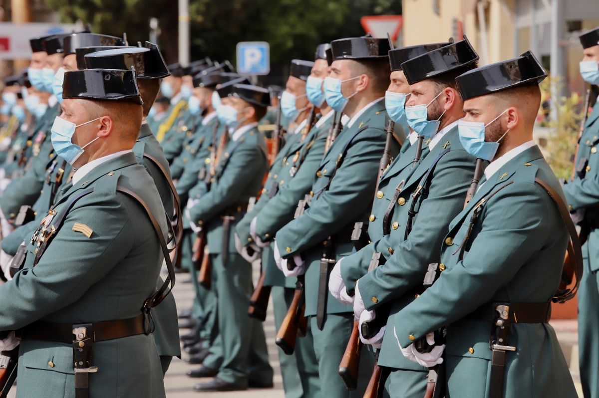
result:
<svg viewBox="0 0 599 398"><path fill-rule="evenodd" d="M314 338L314 352L318 361L320 390L329 397L354 398L364 396L373 371L374 357L370 350L362 350L358 372L358 387L348 391L339 375L339 363L352 335L353 314L326 314L322 330L316 326L316 316L308 320Z"/></svg>

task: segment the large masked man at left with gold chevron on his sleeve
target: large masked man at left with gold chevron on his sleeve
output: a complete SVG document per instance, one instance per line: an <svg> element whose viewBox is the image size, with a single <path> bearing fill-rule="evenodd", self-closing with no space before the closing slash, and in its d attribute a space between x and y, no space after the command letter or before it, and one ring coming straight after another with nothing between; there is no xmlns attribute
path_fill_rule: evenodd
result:
<svg viewBox="0 0 599 398"><path fill-rule="evenodd" d="M168 291L156 290L167 218L132 153L134 74L65 72L63 98L52 144L77 172L0 287L0 329L20 335L17 396L164 397L147 314Z"/></svg>

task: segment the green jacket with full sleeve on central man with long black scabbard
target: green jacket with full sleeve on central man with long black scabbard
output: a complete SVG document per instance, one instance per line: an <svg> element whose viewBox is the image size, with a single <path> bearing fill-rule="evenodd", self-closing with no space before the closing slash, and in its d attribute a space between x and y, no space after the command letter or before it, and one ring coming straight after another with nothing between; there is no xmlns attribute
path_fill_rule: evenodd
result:
<svg viewBox="0 0 599 398"><path fill-rule="evenodd" d="M353 251L349 240L353 225L367 220L370 213L385 148L385 119L385 102L379 101L339 133L316 172L310 207L277 232L279 253L286 258L301 254L304 259L307 316L316 315L323 241L331 236L335 259L349 256ZM392 156L398 151L391 148ZM326 311L337 314L352 308L328 293Z"/></svg>

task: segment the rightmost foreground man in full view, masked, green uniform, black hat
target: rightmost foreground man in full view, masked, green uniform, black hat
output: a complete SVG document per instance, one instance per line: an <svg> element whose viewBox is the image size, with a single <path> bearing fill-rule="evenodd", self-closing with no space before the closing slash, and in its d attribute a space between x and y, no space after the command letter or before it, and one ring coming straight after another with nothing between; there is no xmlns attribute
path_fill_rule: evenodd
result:
<svg viewBox="0 0 599 398"><path fill-rule="evenodd" d="M558 284L568 231L577 238L559 182L533 141L545 77L527 51L456 79L466 114L460 140L491 163L437 241L440 263L428 268L437 280L388 325L404 356L444 364L437 383L446 384L447 396L577 396L548 324L552 299L575 293ZM571 254L582 263L580 253ZM419 350L420 338L423 348L433 347Z"/></svg>

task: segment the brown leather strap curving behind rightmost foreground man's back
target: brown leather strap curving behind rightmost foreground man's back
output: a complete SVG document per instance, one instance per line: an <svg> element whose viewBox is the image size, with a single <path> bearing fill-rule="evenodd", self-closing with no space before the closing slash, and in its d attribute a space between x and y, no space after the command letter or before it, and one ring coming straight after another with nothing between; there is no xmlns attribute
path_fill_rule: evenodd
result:
<svg viewBox="0 0 599 398"><path fill-rule="evenodd" d="M576 292L578 291L580 285L580 279L582 278L582 248L580 247L580 239L578 238L578 233L576 232L576 227L572 222L570 217L570 212L568 211L568 207L565 205L564 200L562 200L561 196L553 187L547 184L545 181L541 180L539 177L534 179L534 182L539 184L545 192L549 195L549 198L553 200L555 205L559 210L559 215L564 221L566 228L568 229L568 235L570 235L570 241L568 241L568 246L566 248L566 254L568 259L564 261L564 269L562 271L562 283L564 286L567 286L572 282L572 277L576 278L576 282L572 288L564 288L557 291L555 297L553 297L553 302L565 302L567 300L571 300L576 296Z"/></svg>

